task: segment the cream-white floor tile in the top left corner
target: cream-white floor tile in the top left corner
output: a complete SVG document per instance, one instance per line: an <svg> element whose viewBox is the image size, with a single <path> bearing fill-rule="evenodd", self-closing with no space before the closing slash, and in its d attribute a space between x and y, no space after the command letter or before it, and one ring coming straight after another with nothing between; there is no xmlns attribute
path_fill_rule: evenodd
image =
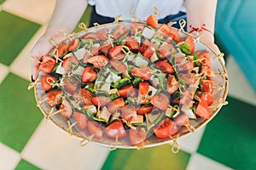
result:
<svg viewBox="0 0 256 170"><path fill-rule="evenodd" d="M39 24L50 19L54 7L55 0L7 0L3 3L3 10Z"/></svg>

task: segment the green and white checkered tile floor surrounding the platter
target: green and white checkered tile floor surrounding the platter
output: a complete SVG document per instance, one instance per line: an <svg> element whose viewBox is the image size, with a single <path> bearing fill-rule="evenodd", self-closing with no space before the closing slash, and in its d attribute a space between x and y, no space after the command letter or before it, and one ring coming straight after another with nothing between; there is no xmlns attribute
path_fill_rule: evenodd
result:
<svg viewBox="0 0 256 170"><path fill-rule="evenodd" d="M44 32L55 1L0 0L0 169L255 169L256 96L235 60L229 105L193 134L144 150L109 151L47 122L36 107L29 84L29 51ZM88 20L84 18L83 20Z"/></svg>

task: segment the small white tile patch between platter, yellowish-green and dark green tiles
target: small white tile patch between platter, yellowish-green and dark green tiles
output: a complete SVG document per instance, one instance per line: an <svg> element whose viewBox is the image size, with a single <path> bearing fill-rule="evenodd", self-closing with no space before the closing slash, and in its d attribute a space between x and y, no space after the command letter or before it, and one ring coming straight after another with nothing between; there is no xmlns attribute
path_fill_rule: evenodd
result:
<svg viewBox="0 0 256 170"><path fill-rule="evenodd" d="M189 153L196 152L204 131L205 126L196 130L195 133L189 133L188 135L177 139L177 144L179 144L180 148L184 151Z"/></svg>

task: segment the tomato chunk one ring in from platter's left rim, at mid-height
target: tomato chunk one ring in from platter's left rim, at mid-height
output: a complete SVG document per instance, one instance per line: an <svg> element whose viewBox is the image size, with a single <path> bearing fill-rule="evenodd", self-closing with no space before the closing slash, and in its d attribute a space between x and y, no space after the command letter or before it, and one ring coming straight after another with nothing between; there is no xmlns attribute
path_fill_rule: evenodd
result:
<svg viewBox="0 0 256 170"><path fill-rule="evenodd" d="M65 77L64 80L64 89L68 94L74 94L79 88L79 80L75 77Z"/></svg>

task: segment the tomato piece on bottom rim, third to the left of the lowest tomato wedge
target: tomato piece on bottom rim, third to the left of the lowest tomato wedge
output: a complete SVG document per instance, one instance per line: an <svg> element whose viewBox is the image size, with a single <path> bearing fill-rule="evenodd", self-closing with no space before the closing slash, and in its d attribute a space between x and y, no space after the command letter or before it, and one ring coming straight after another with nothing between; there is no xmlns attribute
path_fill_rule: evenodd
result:
<svg viewBox="0 0 256 170"><path fill-rule="evenodd" d="M90 135L93 135L93 138L102 139L103 131L100 123L96 121L88 121L87 129Z"/></svg>

